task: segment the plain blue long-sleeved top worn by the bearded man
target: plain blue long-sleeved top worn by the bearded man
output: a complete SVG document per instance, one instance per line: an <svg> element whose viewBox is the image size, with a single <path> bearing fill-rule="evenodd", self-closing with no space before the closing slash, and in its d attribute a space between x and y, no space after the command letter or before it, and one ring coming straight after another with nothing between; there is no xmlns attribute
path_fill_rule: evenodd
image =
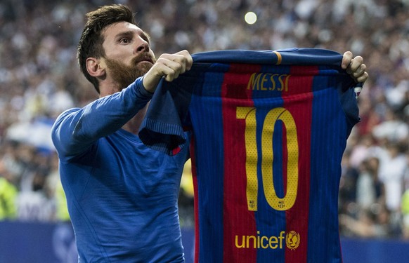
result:
<svg viewBox="0 0 409 263"><path fill-rule="evenodd" d="M53 126L79 262L183 262L177 198L188 149L168 156L121 128L151 97L140 78Z"/></svg>

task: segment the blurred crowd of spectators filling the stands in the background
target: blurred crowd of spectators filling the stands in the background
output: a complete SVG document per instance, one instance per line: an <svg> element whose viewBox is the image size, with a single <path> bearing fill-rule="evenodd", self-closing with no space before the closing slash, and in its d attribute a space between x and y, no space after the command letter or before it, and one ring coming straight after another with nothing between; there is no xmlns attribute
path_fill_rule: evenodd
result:
<svg viewBox="0 0 409 263"><path fill-rule="evenodd" d="M340 231L409 238L409 0L0 1L0 220L69 220L50 128L98 97L79 73L77 41L84 14L112 3L136 11L157 55L309 47L363 56L370 78L342 161ZM192 226L188 168L180 213Z"/></svg>

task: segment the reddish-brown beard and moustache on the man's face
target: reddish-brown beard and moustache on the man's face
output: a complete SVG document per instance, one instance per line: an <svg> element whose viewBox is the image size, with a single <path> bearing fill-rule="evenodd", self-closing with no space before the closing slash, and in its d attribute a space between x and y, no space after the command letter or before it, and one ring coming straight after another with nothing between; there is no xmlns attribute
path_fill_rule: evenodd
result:
<svg viewBox="0 0 409 263"><path fill-rule="evenodd" d="M110 74L112 74L112 79L117 83L119 90L134 83L138 77L145 75L149 71L153 64L145 61L155 63L156 59L152 55L138 56L131 60L131 65L126 65L119 60L105 58Z"/></svg>

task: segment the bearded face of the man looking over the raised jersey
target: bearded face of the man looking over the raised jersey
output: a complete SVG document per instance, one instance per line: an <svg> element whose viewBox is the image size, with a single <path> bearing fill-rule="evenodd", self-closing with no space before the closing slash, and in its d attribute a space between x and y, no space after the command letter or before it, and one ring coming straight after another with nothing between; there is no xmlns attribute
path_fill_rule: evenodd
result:
<svg viewBox="0 0 409 263"><path fill-rule="evenodd" d="M107 77L126 88L139 76L143 76L155 63L148 36L136 25L117 22L103 33Z"/></svg>

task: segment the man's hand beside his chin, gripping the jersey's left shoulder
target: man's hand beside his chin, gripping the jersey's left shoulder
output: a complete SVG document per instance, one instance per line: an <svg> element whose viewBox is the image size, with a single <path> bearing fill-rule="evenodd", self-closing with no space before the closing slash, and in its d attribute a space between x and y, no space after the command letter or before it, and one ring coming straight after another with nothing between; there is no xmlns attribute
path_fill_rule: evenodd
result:
<svg viewBox="0 0 409 263"><path fill-rule="evenodd" d="M166 81L173 81L179 74L188 71L192 64L193 59L188 50L182 50L175 54L162 54L143 76L143 86L153 93L162 77Z"/></svg>

